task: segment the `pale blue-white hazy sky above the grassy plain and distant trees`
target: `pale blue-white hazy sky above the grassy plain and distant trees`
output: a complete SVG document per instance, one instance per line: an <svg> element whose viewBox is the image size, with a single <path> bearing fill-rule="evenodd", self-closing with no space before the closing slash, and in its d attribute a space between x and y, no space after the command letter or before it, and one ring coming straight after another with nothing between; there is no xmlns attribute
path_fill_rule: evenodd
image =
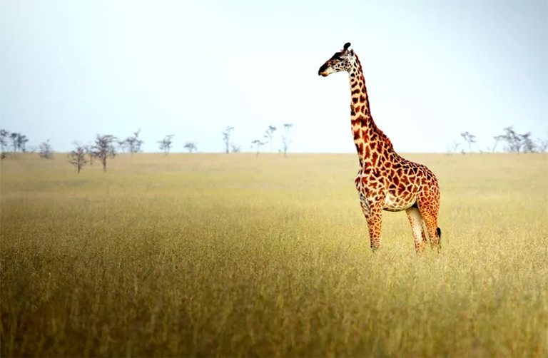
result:
<svg viewBox="0 0 548 358"><path fill-rule="evenodd" d="M290 151L353 152L348 77L318 76L348 41L399 152L548 138L545 0L2 0L0 126L57 151L141 128L145 151L220 152L225 126L243 150L278 126L277 149L293 123Z"/></svg>

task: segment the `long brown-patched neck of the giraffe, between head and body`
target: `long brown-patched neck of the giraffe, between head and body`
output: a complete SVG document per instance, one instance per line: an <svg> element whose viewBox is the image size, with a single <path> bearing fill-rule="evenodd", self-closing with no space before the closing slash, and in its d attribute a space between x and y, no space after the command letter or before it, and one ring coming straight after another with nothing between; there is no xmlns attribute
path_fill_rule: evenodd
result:
<svg viewBox="0 0 548 358"><path fill-rule="evenodd" d="M394 151L390 138L382 133L371 116L369 97L365 86L362 64L356 61L349 73L350 78L350 123L354 134L357 155L360 163L368 159L370 151Z"/></svg>

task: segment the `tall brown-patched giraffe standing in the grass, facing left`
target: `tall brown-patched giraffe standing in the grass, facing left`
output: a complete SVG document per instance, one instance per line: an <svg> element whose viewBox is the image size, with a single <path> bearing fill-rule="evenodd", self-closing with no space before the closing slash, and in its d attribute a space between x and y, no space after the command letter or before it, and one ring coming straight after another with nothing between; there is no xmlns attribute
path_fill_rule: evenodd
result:
<svg viewBox="0 0 548 358"><path fill-rule="evenodd" d="M377 127L371 116L362 65L350 43L320 67L319 76L347 71L350 78L350 123L360 161L355 185L363 215L369 228L371 250L380 247L382 210L407 213L416 252L427 244L440 250L442 232L437 227L440 186L425 165L398 155L390 139Z"/></svg>

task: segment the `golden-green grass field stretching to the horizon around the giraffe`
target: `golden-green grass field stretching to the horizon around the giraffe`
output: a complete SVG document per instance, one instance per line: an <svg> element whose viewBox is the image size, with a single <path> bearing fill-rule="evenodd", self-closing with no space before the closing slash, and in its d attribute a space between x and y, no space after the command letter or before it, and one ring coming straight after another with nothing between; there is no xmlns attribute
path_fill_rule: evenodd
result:
<svg viewBox="0 0 548 358"><path fill-rule="evenodd" d="M548 156L404 156L439 254L370 251L355 154L4 159L0 355L547 357Z"/></svg>

